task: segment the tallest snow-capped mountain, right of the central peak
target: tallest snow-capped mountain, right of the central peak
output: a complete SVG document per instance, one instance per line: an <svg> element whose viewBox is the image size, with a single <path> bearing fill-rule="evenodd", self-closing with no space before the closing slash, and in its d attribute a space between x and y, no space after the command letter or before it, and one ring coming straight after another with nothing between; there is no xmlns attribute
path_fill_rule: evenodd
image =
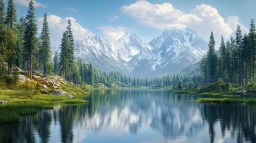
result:
<svg viewBox="0 0 256 143"><path fill-rule="evenodd" d="M129 71L133 75L161 76L197 63L208 50L207 43L189 28L166 29L149 42L152 52ZM140 54L138 54L140 55Z"/></svg>

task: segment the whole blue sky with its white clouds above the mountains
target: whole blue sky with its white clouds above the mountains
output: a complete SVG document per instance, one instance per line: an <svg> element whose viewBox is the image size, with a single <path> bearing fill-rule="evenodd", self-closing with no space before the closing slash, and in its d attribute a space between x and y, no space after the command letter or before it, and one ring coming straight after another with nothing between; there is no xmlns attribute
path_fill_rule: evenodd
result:
<svg viewBox="0 0 256 143"><path fill-rule="evenodd" d="M7 1L7 0L5 0ZM14 0L18 17L26 15L29 0ZM215 39L229 38L240 24L248 32L249 21L256 19L256 1L220 0L37 0L39 32L42 15L49 15L52 45L58 45L66 21L72 19L75 39L100 35L117 40L125 32L137 33L149 42L169 27L191 27L206 41L211 30Z"/></svg>

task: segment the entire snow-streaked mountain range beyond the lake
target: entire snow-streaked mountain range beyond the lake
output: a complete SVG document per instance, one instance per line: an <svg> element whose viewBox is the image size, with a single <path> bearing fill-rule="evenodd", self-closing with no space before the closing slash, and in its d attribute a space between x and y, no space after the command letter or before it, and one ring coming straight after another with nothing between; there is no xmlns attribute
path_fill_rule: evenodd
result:
<svg viewBox="0 0 256 143"><path fill-rule="evenodd" d="M53 48L53 53L60 51ZM155 77L180 71L198 63L208 51L208 43L190 28L166 29L149 43L132 32L118 41L89 36L75 41L75 56L105 71L122 71L132 76Z"/></svg>

